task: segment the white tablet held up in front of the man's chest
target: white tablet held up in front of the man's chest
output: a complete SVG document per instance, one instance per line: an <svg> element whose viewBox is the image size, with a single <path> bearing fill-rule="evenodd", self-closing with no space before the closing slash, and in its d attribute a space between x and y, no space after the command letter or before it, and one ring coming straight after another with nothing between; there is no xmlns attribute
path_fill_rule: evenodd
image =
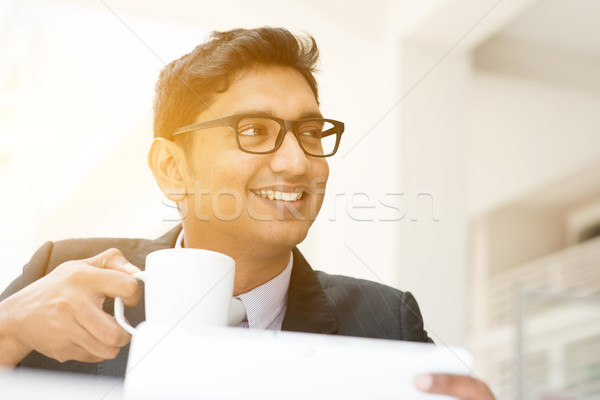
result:
<svg viewBox="0 0 600 400"><path fill-rule="evenodd" d="M469 375L470 353L433 344L240 328L194 334L147 323L132 339L125 399L446 398L414 376Z"/></svg>

